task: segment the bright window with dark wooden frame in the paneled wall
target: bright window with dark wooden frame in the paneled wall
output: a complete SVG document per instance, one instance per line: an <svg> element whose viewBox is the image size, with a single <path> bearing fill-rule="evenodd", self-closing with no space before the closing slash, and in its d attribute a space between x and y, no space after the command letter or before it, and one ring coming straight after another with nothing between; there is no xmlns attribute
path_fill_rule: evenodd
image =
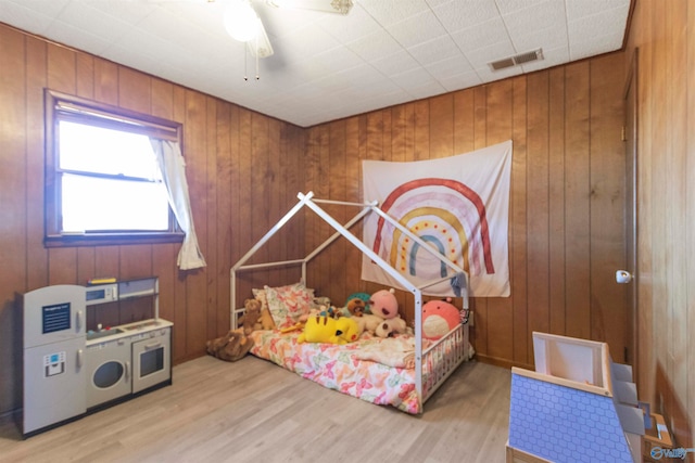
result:
<svg viewBox="0 0 695 463"><path fill-rule="evenodd" d="M151 141L180 125L47 90L46 244L180 242Z"/></svg>

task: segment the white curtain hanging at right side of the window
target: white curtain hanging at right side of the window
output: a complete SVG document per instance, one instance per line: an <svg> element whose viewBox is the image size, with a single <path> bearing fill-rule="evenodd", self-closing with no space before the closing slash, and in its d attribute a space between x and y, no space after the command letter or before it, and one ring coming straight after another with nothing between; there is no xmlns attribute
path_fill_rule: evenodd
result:
<svg viewBox="0 0 695 463"><path fill-rule="evenodd" d="M181 155L181 147L175 141L150 139L150 142L168 192L169 205L174 210L178 226L186 233L184 245L178 253L178 267L181 270L205 267L205 258L198 246L198 237L193 227L193 215L191 214L191 202L186 181L186 162Z"/></svg>

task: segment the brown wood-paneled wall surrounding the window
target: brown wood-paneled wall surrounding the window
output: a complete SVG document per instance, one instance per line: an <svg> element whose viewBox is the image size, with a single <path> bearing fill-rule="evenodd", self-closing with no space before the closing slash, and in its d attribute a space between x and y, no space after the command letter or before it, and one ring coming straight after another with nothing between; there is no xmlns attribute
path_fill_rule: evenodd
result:
<svg viewBox="0 0 695 463"><path fill-rule="evenodd" d="M204 355L205 340L229 329L231 265L303 189L304 129L3 25L0 79L0 413L21 406L20 299L41 286L157 275L161 317L175 324L175 362ZM178 244L43 247L46 87L184 124L204 270L178 271ZM286 243L266 255L303 253L301 237Z"/></svg>

